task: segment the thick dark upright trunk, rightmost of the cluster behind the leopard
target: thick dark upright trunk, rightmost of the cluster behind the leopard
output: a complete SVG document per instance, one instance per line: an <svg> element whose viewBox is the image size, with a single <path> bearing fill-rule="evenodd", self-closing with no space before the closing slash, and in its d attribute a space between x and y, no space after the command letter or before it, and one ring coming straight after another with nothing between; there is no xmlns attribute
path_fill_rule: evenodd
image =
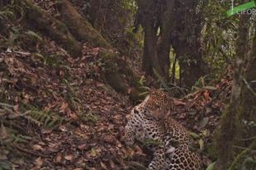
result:
<svg viewBox="0 0 256 170"><path fill-rule="evenodd" d="M172 45L179 60L181 82L190 88L206 73L207 66L201 53L200 36L203 14L196 13L199 1L175 1ZM184 4L186 8L184 8Z"/></svg>

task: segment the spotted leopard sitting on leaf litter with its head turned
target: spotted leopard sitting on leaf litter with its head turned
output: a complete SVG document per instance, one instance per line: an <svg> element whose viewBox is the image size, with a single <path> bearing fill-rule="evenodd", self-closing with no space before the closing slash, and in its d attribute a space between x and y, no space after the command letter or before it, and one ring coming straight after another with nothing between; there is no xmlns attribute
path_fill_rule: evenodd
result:
<svg viewBox="0 0 256 170"><path fill-rule="evenodd" d="M156 119L158 115L155 112L161 106L165 107L164 102L167 100L169 99L161 92L157 94L154 91L153 95L148 95L135 106L125 126L123 140L128 146L132 146L135 140L153 139L158 142L154 148L153 160L148 165L150 170L199 170L202 166L200 155L190 151L192 140L185 127L170 116ZM174 149L173 143L178 143Z"/></svg>

